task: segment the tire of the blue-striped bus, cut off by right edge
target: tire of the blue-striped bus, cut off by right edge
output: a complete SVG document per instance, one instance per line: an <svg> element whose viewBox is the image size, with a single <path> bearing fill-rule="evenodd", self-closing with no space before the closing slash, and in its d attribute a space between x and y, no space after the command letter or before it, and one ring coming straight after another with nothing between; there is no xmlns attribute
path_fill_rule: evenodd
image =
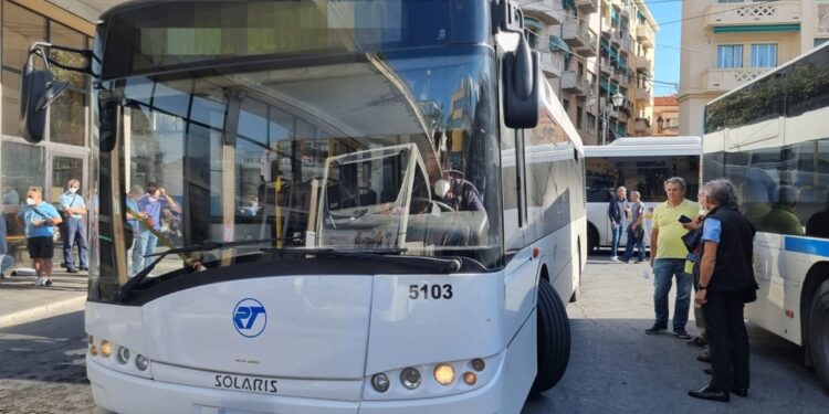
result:
<svg viewBox="0 0 829 414"><path fill-rule="evenodd" d="M829 280L811 296L808 327L811 362L823 389L829 392Z"/></svg>

